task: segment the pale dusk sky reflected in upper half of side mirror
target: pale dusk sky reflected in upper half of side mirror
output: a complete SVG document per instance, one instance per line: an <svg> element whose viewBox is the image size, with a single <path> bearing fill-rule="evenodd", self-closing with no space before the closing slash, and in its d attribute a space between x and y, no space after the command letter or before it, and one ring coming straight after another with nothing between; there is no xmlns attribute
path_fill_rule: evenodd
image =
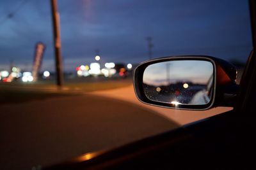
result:
<svg viewBox="0 0 256 170"><path fill-rule="evenodd" d="M207 84L213 65L203 60L176 60L152 64L145 69L143 83L154 86L177 82Z"/></svg>

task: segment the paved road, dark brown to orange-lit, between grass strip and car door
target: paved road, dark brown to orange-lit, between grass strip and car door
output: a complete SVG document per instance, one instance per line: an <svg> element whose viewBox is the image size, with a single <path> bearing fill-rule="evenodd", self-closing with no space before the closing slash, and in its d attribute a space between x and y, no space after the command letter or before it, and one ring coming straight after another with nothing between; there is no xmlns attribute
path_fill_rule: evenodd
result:
<svg viewBox="0 0 256 170"><path fill-rule="evenodd" d="M1 104L1 169L31 169L115 148L227 111L142 104L132 86Z"/></svg>

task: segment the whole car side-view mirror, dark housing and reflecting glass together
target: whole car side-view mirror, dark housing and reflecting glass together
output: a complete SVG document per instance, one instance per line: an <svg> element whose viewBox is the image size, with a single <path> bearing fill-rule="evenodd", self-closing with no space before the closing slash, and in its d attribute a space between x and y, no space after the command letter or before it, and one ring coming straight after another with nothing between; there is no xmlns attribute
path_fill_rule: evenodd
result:
<svg viewBox="0 0 256 170"><path fill-rule="evenodd" d="M236 74L236 67L214 57L164 57L136 67L134 89L146 104L207 110L232 106L238 89Z"/></svg>

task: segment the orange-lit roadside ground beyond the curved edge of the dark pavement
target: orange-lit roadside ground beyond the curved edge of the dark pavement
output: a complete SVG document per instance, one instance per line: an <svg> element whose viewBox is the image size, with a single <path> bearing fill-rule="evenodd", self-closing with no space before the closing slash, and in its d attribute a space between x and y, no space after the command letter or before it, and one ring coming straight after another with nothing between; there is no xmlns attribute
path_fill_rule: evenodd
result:
<svg viewBox="0 0 256 170"><path fill-rule="evenodd" d="M65 83L64 87L61 89L58 89L56 85L51 83L25 85L19 83L0 83L0 105L41 101L56 97L82 96L83 94L108 97L110 100L118 99L136 104L141 108L152 110L157 115L174 121L179 125L186 125L201 120L202 118L211 117L232 110L232 108L219 107L207 111L184 111L143 104L138 101L135 96L131 78L122 80L90 81L87 83Z"/></svg>

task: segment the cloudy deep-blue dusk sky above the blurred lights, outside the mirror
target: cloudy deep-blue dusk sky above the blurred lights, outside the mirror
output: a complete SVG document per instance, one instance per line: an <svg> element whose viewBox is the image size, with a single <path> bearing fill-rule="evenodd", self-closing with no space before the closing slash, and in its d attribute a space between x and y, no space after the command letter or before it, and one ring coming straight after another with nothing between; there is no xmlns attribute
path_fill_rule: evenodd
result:
<svg viewBox="0 0 256 170"><path fill-rule="evenodd" d="M50 0L1 0L0 6L0 70L13 60L31 71L38 41L46 45L41 71L54 70ZM102 63L147 60L147 36L153 58L212 55L245 62L252 50L244 0L59 0L58 10L66 71L95 61L95 49Z"/></svg>

